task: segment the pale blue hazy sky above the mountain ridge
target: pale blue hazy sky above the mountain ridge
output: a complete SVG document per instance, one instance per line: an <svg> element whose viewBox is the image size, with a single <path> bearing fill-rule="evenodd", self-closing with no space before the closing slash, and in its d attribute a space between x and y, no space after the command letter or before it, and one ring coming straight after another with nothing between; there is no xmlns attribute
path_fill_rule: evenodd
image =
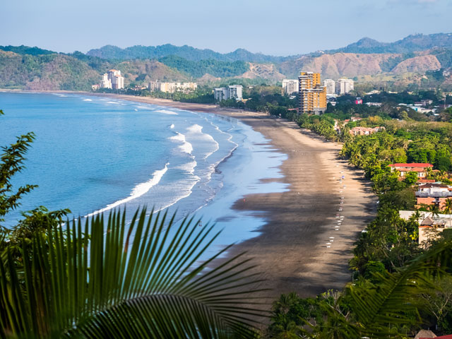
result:
<svg viewBox="0 0 452 339"><path fill-rule="evenodd" d="M87 52L188 44L288 55L452 32L452 0L0 0L0 44Z"/></svg>

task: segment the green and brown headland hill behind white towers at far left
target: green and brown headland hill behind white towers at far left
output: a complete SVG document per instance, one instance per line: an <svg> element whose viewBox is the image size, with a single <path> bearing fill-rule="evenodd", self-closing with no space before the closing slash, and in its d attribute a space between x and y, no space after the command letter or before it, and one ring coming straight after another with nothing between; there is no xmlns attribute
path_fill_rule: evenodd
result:
<svg viewBox="0 0 452 339"><path fill-rule="evenodd" d="M83 57L84 56L84 57ZM0 88L25 90L90 90L108 69L119 69L126 84L185 81L189 77L152 60L130 60L110 63L81 55L29 55L0 50Z"/></svg>

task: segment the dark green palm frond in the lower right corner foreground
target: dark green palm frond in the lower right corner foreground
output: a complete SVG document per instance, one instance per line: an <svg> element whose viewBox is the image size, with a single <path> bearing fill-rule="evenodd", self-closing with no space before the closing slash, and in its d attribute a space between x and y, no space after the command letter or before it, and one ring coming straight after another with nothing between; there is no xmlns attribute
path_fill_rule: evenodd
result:
<svg viewBox="0 0 452 339"><path fill-rule="evenodd" d="M349 284L346 291L359 331L371 338L396 338L395 326L419 323L417 296L436 290L432 278L444 274L451 260L452 243L444 242L395 273L376 273L378 285Z"/></svg>

